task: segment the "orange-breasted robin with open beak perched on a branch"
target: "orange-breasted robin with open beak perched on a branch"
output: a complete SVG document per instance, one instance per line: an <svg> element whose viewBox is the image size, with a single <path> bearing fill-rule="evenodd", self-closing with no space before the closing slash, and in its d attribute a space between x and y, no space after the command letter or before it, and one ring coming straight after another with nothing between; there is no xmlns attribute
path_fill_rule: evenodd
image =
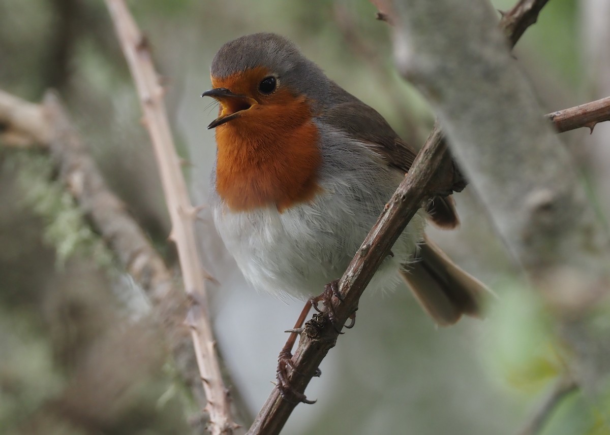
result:
<svg viewBox="0 0 610 435"><path fill-rule="evenodd" d="M342 276L417 153L281 35L225 43L210 79L202 96L220 103L208 126L217 144L209 192L215 227L254 288L315 297ZM481 316L486 286L425 235L427 221L458 226L453 198L422 206L368 288L406 281L438 325Z"/></svg>

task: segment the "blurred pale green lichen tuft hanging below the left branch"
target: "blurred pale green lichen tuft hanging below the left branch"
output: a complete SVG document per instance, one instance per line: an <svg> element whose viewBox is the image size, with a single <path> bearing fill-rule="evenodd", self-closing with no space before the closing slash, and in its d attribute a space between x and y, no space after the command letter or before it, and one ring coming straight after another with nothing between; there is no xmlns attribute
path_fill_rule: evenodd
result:
<svg viewBox="0 0 610 435"><path fill-rule="evenodd" d="M48 156L16 153L18 183L23 200L46 225L45 242L54 247L57 264L63 266L74 255L90 257L98 266L110 267L113 256L104 241L85 222L81 208L57 180L52 179L54 165Z"/></svg>

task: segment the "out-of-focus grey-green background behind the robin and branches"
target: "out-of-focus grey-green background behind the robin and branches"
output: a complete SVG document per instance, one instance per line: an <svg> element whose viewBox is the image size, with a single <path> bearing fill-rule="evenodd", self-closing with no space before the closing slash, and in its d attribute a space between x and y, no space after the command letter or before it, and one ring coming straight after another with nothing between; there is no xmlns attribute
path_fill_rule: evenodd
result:
<svg viewBox="0 0 610 435"><path fill-rule="evenodd" d="M217 49L243 34L291 38L415 147L431 128L434 116L397 77L387 24L375 20L367 0L127 3L167 86L196 205L207 200L215 143L206 126L217 112L199 95L210 88ZM512 4L493 2L497 9ZM608 0L553 0L526 32L515 57L545 112L610 95L609 22ZM38 102L48 88L59 91L110 187L174 264L151 145L104 2L0 0L0 89ZM592 135L561 135L605 216L609 134L600 124ZM0 433L196 431L198 406L147 323L142 291L117 267L56 172L43 150L0 144ZM553 304L527 288L475 194L467 188L456 200L461 228L430 233L494 289L487 318L439 329L406 288L369 289L356 327L340 337L307 389L318 403L298 406L284 433L516 434L570 366L573 353ZM201 252L220 283L209 285L218 347L248 419L273 387L282 331L302 303L249 288L209 213L201 216ZM600 306L587 319L597 344L584 355L594 354L596 367L610 361L608 314ZM591 373L597 387L565 397L541 433L610 433L610 384L598 374L603 370Z"/></svg>

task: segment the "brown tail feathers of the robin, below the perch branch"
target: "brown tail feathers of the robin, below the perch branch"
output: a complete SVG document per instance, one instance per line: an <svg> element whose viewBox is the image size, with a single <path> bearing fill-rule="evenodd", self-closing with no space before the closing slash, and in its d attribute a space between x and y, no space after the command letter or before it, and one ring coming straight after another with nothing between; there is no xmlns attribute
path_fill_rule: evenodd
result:
<svg viewBox="0 0 610 435"><path fill-rule="evenodd" d="M437 324L452 325L462 314L481 317L481 297L489 292L486 286L427 238L420 246L420 256L420 261L409 264L401 274Z"/></svg>

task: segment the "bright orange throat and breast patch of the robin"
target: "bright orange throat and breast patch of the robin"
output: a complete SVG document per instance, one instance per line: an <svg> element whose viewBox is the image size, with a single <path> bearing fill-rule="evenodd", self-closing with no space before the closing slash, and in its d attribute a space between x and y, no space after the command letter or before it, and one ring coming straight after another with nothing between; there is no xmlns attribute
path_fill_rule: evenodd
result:
<svg viewBox="0 0 610 435"><path fill-rule="evenodd" d="M320 190L318 130L304 97L278 90L216 129L216 189L234 211L312 200Z"/></svg>

